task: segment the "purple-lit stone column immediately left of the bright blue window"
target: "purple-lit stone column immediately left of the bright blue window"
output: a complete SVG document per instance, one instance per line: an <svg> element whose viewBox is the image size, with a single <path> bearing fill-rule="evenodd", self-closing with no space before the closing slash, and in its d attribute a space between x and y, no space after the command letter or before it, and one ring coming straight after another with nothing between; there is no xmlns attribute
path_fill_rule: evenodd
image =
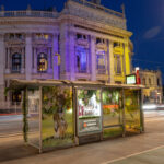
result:
<svg viewBox="0 0 164 164"><path fill-rule="evenodd" d="M69 32L69 62L70 62L70 80L75 80L75 50L74 50L74 33Z"/></svg>

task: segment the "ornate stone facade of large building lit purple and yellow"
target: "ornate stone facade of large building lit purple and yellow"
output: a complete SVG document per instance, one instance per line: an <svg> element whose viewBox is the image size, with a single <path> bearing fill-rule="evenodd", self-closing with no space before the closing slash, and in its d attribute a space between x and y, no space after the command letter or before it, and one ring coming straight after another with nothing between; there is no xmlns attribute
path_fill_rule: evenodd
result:
<svg viewBox="0 0 164 164"><path fill-rule="evenodd" d="M124 10L99 2L68 0L60 13L1 9L0 102L20 101L20 93L3 94L11 79L125 83L131 73L132 33Z"/></svg>

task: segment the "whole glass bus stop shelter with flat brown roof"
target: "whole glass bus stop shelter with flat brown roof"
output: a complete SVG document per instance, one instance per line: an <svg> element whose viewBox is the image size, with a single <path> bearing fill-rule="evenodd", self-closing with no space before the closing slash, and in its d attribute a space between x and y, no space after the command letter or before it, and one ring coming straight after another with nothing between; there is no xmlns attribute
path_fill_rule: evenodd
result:
<svg viewBox="0 0 164 164"><path fill-rule="evenodd" d="M142 85L11 80L23 94L25 142L44 152L144 131Z"/></svg>

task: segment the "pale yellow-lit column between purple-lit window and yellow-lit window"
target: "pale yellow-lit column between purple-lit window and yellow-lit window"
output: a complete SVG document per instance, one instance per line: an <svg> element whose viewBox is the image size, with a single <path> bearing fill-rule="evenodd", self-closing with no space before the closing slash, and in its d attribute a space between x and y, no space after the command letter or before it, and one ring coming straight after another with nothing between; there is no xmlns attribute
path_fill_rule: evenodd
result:
<svg viewBox="0 0 164 164"><path fill-rule="evenodd" d="M114 43L109 40L109 75L110 75L110 83L114 83Z"/></svg>

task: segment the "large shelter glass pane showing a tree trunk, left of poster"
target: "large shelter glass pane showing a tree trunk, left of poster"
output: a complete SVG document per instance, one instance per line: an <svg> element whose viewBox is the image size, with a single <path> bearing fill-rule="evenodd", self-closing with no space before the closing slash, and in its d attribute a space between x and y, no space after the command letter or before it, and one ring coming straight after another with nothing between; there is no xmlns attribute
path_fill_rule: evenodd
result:
<svg viewBox="0 0 164 164"><path fill-rule="evenodd" d="M43 148L73 143L72 89L43 87Z"/></svg>

